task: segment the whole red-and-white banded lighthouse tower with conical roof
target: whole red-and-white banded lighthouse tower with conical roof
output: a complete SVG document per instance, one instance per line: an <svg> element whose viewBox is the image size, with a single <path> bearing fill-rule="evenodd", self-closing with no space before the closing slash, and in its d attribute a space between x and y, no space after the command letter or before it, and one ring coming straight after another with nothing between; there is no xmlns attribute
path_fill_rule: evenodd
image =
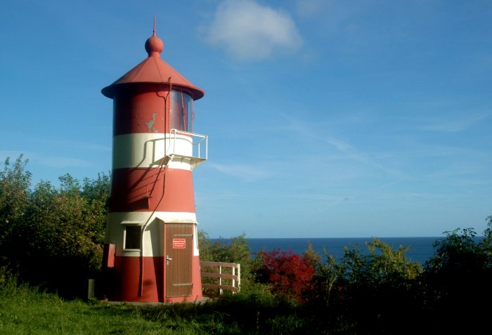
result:
<svg viewBox="0 0 492 335"><path fill-rule="evenodd" d="M193 133L193 102L204 92L162 60L163 49L154 20L148 58L101 91L113 100L110 301L202 297L192 171L207 159L207 136Z"/></svg>

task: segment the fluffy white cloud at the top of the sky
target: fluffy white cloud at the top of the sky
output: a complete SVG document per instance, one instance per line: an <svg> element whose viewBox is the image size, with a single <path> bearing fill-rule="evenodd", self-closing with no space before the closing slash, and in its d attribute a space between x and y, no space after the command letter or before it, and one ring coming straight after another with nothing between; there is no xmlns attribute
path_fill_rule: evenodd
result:
<svg viewBox="0 0 492 335"><path fill-rule="evenodd" d="M216 10L207 41L239 60L262 60L296 50L302 38L285 11L252 0L226 0Z"/></svg>

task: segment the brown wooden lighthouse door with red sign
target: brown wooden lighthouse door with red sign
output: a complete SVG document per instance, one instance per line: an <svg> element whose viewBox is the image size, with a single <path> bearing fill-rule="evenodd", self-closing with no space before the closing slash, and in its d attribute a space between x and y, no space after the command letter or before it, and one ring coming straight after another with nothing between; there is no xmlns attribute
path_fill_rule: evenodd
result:
<svg viewBox="0 0 492 335"><path fill-rule="evenodd" d="M165 225L166 297L191 296L193 224Z"/></svg>

